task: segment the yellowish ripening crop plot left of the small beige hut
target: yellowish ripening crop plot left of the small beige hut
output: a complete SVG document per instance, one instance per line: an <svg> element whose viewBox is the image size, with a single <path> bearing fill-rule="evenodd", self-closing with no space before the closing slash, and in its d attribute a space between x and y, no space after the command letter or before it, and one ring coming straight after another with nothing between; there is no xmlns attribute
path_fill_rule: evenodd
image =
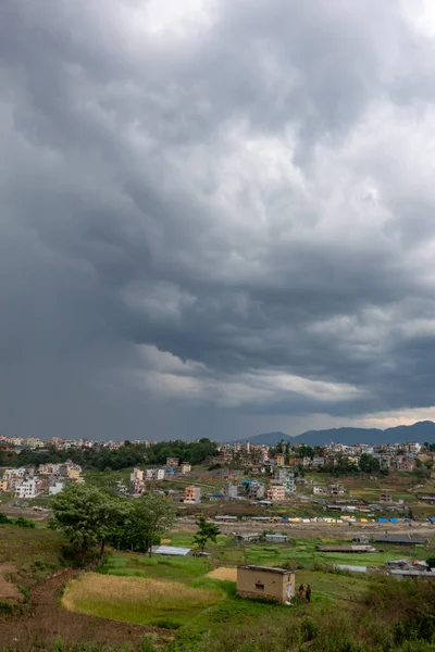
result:
<svg viewBox="0 0 435 652"><path fill-rule="evenodd" d="M225 595L219 588L85 573L67 585L62 604L103 618L177 628Z"/></svg>

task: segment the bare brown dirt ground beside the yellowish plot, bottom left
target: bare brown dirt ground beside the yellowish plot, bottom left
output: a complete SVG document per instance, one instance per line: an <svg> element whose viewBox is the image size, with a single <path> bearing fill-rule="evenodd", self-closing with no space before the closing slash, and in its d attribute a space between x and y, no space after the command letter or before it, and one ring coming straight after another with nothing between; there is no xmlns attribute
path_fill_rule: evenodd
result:
<svg viewBox="0 0 435 652"><path fill-rule="evenodd" d="M113 645L138 641L147 634L153 634L157 642L173 638L170 631L154 627L119 623L62 609L59 605L62 590L78 575L78 570L61 570L33 591L30 613L0 619L0 651L17 648L27 652L35 649L37 642L49 644L57 637L67 642L98 641Z"/></svg>

